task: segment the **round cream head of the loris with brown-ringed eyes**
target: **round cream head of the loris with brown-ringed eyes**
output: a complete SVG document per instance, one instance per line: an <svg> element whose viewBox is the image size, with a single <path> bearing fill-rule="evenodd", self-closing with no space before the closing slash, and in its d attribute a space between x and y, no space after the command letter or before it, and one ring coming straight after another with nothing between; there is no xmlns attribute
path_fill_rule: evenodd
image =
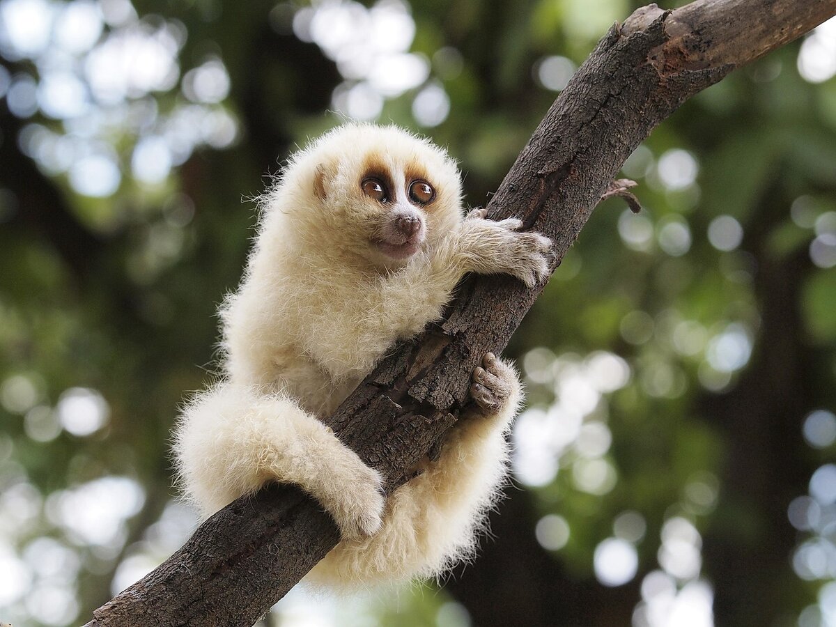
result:
<svg viewBox="0 0 836 627"><path fill-rule="evenodd" d="M350 124L293 156L268 202L305 245L397 268L461 220L456 164L395 126Z"/></svg>

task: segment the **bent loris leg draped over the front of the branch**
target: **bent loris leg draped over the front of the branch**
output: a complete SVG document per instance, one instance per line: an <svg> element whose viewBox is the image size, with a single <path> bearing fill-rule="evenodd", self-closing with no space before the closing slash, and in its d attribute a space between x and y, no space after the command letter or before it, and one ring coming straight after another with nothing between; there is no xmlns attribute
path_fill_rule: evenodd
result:
<svg viewBox="0 0 836 627"><path fill-rule="evenodd" d="M380 528L380 474L282 395L217 385L186 407L174 451L182 487L206 515L275 480L319 500L343 538Z"/></svg>

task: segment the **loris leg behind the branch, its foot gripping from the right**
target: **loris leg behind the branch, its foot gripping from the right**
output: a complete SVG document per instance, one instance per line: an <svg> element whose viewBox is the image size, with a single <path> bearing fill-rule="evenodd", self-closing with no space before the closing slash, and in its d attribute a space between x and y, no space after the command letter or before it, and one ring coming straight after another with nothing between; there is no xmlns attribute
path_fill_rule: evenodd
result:
<svg viewBox="0 0 836 627"><path fill-rule="evenodd" d="M506 474L505 433L523 398L512 366L487 354L473 372L476 407L462 415L426 471L393 492L370 538L341 542L308 582L356 587L432 577L472 558Z"/></svg>

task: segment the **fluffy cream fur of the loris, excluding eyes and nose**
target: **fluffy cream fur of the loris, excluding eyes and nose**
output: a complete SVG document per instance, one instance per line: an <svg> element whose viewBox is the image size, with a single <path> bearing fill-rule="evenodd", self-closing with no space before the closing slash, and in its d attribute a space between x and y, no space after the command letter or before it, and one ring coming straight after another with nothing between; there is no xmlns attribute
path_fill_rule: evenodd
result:
<svg viewBox="0 0 836 627"><path fill-rule="evenodd" d="M365 196L369 173L390 198ZM410 202L412 178L435 200ZM375 238L395 212L426 237L405 259ZM521 401L514 371L488 355L463 415L425 472L386 500L381 477L319 421L398 339L437 319L470 271L529 284L548 272L549 241L461 212L461 182L440 148L395 127L344 125L294 155L263 197L247 271L221 309L225 376L186 406L175 454L186 495L205 514L264 482L292 482L334 517L343 540L308 580L340 588L443 572L472 555L505 474L505 431ZM387 230L388 229L388 230Z"/></svg>

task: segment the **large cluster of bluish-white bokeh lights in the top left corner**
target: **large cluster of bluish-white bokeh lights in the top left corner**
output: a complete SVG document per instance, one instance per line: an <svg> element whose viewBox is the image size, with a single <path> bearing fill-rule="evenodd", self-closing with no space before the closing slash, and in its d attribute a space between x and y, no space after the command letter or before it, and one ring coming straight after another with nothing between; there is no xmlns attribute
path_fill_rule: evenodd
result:
<svg viewBox="0 0 836 627"><path fill-rule="evenodd" d="M213 54L181 80L186 36L176 20L139 18L128 0L3 0L0 51L38 71L9 77L9 110L61 123L28 125L24 152L50 176L66 174L79 195L105 198L127 174L155 186L201 145L232 145L227 69ZM178 83L185 101L161 109L155 94Z"/></svg>

